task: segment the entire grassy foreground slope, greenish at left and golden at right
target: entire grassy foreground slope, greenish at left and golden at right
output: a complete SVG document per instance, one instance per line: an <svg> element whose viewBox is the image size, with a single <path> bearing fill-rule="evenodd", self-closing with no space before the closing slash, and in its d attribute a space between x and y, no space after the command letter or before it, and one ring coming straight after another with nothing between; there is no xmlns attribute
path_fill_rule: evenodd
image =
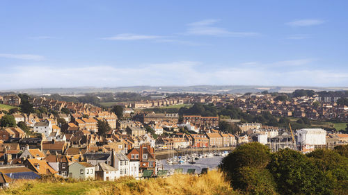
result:
<svg viewBox="0 0 348 195"><path fill-rule="evenodd" d="M76 181L70 179L18 180L0 194L237 194L225 181L223 173L213 170L203 176L175 174L168 178L135 180L120 178L115 182Z"/></svg>

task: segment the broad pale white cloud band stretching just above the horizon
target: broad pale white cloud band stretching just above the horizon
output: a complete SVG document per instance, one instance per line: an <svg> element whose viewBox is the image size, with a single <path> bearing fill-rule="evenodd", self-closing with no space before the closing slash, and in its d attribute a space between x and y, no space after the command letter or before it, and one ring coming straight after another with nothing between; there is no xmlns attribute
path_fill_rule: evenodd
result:
<svg viewBox="0 0 348 195"><path fill-rule="evenodd" d="M136 67L111 65L84 67L20 66L0 72L0 78L3 78L0 88L134 85L342 86L348 83L347 70L313 69L307 66L309 62L311 61L308 59L285 60L270 62L269 66L267 64L258 66L259 62L247 62L246 64L249 65L226 65L210 69L204 68L209 66L201 62L192 61L146 64ZM283 69L274 68L276 65L283 66ZM285 65L292 68L284 67Z"/></svg>

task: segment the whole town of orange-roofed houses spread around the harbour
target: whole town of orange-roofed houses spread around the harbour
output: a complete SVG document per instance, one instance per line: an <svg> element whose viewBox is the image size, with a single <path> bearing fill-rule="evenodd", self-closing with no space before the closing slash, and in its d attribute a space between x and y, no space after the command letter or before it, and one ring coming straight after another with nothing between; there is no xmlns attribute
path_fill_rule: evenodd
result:
<svg viewBox="0 0 348 195"><path fill-rule="evenodd" d="M348 144L347 91L152 94L109 107L53 97L0 96L1 185L45 174L159 176L169 173L159 160L194 163L248 142L302 153Z"/></svg>

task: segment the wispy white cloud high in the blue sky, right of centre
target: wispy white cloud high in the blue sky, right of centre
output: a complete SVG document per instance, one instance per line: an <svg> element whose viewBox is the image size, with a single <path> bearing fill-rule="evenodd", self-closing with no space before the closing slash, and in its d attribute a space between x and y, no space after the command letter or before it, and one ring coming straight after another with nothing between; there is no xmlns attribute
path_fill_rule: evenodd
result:
<svg viewBox="0 0 348 195"><path fill-rule="evenodd" d="M189 28L187 28L188 35L212 35L212 36L228 36L228 37L251 37L255 35L259 35L254 32L235 32L228 31L226 28L212 26L219 22L218 19L205 19L198 22L193 22L187 24Z"/></svg>

